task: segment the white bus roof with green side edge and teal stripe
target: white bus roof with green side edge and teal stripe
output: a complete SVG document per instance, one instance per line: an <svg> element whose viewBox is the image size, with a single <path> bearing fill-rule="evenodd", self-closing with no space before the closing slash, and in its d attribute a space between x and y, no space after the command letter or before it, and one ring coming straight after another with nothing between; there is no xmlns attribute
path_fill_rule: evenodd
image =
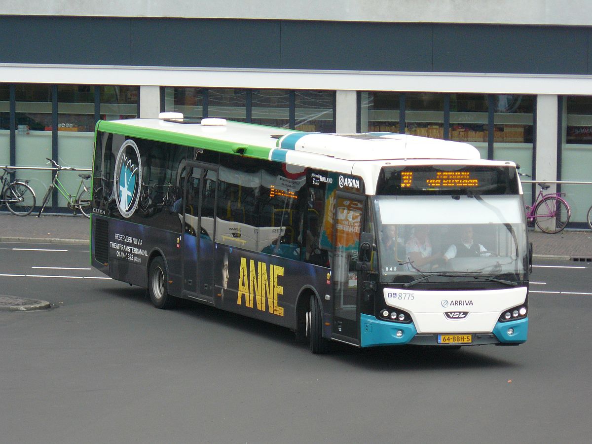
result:
<svg viewBox="0 0 592 444"><path fill-rule="evenodd" d="M350 162L396 159L479 160L478 150L468 144L396 133L305 133L224 119L201 122L181 118L99 121L98 131L130 137L202 147L220 152L287 162L288 157L310 155ZM298 153L296 156L289 153ZM288 159L289 162L289 159ZM300 163L300 162L298 162ZM321 162L324 163L324 162Z"/></svg>

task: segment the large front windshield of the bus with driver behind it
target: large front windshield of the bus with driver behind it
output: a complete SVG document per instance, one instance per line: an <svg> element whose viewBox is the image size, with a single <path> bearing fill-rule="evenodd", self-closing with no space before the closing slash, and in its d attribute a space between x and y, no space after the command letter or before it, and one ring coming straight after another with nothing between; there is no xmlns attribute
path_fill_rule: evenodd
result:
<svg viewBox="0 0 592 444"><path fill-rule="evenodd" d="M378 268L400 275L525 279L519 195L377 196Z"/></svg>

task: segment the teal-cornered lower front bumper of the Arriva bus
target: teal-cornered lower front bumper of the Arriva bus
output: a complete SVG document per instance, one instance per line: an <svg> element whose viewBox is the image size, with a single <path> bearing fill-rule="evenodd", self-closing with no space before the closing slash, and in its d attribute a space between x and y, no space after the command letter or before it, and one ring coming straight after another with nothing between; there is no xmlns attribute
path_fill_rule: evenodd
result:
<svg viewBox="0 0 592 444"><path fill-rule="evenodd" d="M418 334L413 323L382 321L368 314L362 314L360 321L362 347L406 344L449 346L439 344L437 334ZM519 345L526 342L527 333L528 318L498 322L491 333L472 333L473 340L467 345Z"/></svg>

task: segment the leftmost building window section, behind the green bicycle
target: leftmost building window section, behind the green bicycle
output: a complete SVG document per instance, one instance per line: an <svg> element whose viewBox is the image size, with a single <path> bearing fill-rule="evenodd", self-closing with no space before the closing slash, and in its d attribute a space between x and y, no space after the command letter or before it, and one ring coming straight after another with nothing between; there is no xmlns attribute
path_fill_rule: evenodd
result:
<svg viewBox="0 0 592 444"><path fill-rule="evenodd" d="M11 88L14 116L10 111ZM47 157L63 166L91 168L96 121L137 117L139 92L139 86L125 85L0 84L0 164L47 168ZM15 121L14 153L11 117ZM78 173L60 174L67 191L78 188ZM19 169L17 178L28 179L40 202L52 181L52 172ZM66 207L62 195L54 192L53 197L59 197L59 201L50 200L50 207Z"/></svg>

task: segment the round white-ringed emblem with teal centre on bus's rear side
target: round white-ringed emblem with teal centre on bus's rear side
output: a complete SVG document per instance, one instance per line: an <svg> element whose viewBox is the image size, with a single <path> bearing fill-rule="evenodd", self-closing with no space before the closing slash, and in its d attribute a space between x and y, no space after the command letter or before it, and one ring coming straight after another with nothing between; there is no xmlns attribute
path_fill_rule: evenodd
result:
<svg viewBox="0 0 592 444"><path fill-rule="evenodd" d="M115 202L123 217L130 217L136 211L140 198L142 165L140 150L133 140L121 145L115 160Z"/></svg>

